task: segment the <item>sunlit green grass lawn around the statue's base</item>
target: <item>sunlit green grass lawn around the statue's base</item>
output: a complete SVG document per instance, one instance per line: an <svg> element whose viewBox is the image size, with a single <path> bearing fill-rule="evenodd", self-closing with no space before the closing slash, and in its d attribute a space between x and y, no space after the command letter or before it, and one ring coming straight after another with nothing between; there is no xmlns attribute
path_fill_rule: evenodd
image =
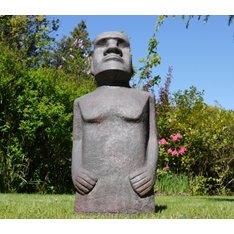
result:
<svg viewBox="0 0 234 234"><path fill-rule="evenodd" d="M156 196L156 213L77 215L74 195L0 194L1 219L233 219L234 197Z"/></svg>

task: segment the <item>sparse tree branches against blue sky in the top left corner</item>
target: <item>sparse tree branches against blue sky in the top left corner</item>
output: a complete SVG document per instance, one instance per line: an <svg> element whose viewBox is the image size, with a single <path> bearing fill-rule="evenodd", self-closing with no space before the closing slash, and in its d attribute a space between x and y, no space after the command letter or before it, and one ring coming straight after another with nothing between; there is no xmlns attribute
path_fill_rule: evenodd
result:
<svg viewBox="0 0 234 234"><path fill-rule="evenodd" d="M58 20L49 21L45 16L0 16L0 42L24 59L29 67L48 64L58 29Z"/></svg>

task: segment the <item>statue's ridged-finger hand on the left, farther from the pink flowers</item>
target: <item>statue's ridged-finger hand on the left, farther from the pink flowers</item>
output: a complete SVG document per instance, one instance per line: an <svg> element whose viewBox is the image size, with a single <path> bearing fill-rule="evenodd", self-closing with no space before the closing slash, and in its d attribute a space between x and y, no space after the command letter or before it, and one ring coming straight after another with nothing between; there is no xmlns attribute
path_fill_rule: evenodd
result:
<svg viewBox="0 0 234 234"><path fill-rule="evenodd" d="M91 172L81 169L73 180L74 186L81 195L88 194L97 183L97 178Z"/></svg>

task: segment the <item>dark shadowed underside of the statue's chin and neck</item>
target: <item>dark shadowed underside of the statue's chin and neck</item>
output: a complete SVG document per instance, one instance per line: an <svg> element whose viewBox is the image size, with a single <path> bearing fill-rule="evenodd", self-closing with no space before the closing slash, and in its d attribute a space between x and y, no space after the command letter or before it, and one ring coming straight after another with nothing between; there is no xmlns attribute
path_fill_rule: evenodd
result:
<svg viewBox="0 0 234 234"><path fill-rule="evenodd" d="M132 74L119 69L110 69L102 71L95 75L97 86L110 85L130 87L129 80Z"/></svg>

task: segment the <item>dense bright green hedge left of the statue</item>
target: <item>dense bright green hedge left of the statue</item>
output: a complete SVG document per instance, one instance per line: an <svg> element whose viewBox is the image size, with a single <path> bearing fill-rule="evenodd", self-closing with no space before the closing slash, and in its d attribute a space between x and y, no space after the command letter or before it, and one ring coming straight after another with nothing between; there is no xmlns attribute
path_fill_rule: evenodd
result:
<svg viewBox="0 0 234 234"><path fill-rule="evenodd" d="M0 50L0 191L71 192L73 101L94 83Z"/></svg>

